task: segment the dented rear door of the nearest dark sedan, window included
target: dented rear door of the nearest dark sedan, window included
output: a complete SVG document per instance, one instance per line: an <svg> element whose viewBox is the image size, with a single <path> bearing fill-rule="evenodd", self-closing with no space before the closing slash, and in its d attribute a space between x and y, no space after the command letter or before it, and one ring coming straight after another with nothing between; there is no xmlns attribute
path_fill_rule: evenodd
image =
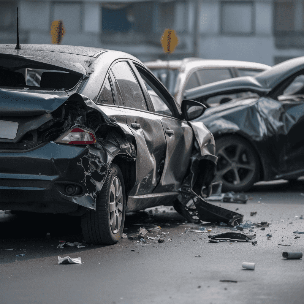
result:
<svg viewBox="0 0 304 304"><path fill-rule="evenodd" d="M119 107L124 108L126 123L136 141L136 182L128 196L147 195L160 179L159 167L166 151L163 127L161 121L148 112L147 102L128 62L119 61L111 70L117 99L122 102Z"/></svg>

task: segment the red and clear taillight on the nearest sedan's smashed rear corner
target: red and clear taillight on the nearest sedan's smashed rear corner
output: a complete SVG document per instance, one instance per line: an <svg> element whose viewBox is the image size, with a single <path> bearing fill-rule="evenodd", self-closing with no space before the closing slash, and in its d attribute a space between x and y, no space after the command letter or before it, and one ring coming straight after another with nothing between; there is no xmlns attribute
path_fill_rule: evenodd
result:
<svg viewBox="0 0 304 304"><path fill-rule="evenodd" d="M73 145L87 145L90 143L96 143L96 138L92 132L76 127L61 135L57 140L55 140L55 142L70 143Z"/></svg>

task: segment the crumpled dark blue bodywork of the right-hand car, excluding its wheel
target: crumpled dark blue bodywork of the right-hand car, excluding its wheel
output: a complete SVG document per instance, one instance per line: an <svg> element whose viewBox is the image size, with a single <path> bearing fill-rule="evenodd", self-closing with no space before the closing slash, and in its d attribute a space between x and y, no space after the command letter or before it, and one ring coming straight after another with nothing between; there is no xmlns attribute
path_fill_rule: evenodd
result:
<svg viewBox="0 0 304 304"><path fill-rule="evenodd" d="M256 77L219 81L188 90L186 97L204 102L227 92L255 92L260 98L238 98L207 109L195 119L219 138L235 134L250 142L259 157L259 180L293 179L304 173L304 102L284 91L304 74L304 57L277 64ZM286 91L287 92L287 91Z"/></svg>

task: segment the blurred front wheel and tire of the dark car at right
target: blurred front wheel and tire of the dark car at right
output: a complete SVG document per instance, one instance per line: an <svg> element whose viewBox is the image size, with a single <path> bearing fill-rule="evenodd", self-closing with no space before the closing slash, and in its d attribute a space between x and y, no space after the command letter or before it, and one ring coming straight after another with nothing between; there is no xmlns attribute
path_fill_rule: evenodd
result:
<svg viewBox="0 0 304 304"><path fill-rule="evenodd" d="M254 148L239 136L223 136L215 140L215 181L222 181L222 192L249 190L257 181L259 160Z"/></svg>

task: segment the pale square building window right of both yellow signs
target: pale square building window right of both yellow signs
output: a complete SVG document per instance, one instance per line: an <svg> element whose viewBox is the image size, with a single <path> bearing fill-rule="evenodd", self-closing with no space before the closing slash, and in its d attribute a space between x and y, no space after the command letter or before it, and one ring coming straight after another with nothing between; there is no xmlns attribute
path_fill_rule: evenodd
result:
<svg viewBox="0 0 304 304"><path fill-rule="evenodd" d="M224 34L253 34L254 6L252 2L222 2L221 27Z"/></svg>

